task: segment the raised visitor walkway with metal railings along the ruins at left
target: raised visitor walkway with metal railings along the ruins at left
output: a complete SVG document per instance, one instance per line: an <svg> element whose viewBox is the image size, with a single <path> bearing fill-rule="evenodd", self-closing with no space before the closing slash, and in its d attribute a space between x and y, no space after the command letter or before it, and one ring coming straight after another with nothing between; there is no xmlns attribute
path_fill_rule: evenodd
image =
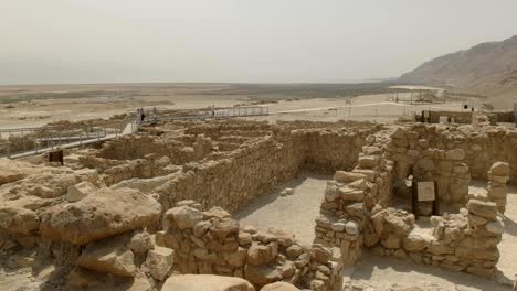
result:
<svg viewBox="0 0 517 291"><path fill-rule="evenodd" d="M93 142L133 134L141 125L159 121L225 119L234 117L263 116L265 106L210 107L193 110L139 108L127 111L120 120L92 120L88 122L57 122L41 128L0 129L0 157L15 159L55 149L77 148Z"/></svg>

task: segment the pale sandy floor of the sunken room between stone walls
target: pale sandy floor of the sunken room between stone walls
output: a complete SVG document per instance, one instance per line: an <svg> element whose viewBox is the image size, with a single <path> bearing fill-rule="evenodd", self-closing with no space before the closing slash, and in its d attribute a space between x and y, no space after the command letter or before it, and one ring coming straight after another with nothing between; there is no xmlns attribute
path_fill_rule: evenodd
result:
<svg viewBox="0 0 517 291"><path fill-rule="evenodd" d="M281 185L274 193L252 201L245 208L234 214L242 226L254 225L258 229L270 227L289 230L302 242L313 244L315 218L324 197L330 175L302 172L298 177ZM294 188L294 194L281 196L285 188Z"/></svg>

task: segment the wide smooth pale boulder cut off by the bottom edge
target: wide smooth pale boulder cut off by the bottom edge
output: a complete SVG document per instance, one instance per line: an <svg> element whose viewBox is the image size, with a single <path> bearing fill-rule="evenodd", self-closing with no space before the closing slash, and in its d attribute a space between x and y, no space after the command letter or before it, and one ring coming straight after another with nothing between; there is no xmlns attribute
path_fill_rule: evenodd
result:
<svg viewBox="0 0 517 291"><path fill-rule="evenodd" d="M244 279L214 274L172 276L161 287L161 291L254 291Z"/></svg>

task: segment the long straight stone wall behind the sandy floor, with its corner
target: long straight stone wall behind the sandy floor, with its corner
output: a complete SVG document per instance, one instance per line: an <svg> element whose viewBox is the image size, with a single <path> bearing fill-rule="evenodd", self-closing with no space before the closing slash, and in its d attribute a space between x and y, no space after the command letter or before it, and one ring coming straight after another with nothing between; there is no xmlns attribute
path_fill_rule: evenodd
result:
<svg viewBox="0 0 517 291"><path fill-rule="evenodd" d="M377 130L275 128L272 134L249 139L238 149L184 164L156 192L166 209L182 200L197 200L204 209L220 206L235 212L294 179L300 169L319 173L351 169L366 137Z"/></svg>

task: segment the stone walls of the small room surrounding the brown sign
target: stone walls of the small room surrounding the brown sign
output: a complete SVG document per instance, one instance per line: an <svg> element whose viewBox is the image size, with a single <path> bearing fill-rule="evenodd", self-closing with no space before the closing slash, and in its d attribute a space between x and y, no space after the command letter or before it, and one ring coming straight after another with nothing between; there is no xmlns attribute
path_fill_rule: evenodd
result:
<svg viewBox="0 0 517 291"><path fill-rule="evenodd" d="M433 133L428 136L428 130ZM451 136L440 141L436 130L443 129L415 125L368 137L356 168L337 171L327 185L316 219L317 242L339 247L347 263L368 247L380 256L493 277L504 229L497 212L506 203L509 165L495 163L487 175L487 194L474 198L468 195L466 154L454 148L461 142ZM418 181L437 180L439 193L446 193L441 197L455 202L458 213L433 216L426 226L415 223L413 214L393 208L392 182L405 182L410 174Z"/></svg>

